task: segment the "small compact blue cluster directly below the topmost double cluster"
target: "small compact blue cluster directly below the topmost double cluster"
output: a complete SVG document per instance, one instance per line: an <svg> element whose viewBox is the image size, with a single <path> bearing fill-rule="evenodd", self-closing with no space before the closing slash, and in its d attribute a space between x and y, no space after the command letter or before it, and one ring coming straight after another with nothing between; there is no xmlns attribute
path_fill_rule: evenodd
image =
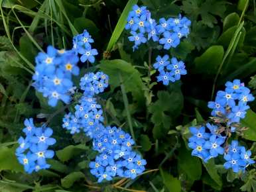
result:
<svg viewBox="0 0 256 192"><path fill-rule="evenodd" d="M153 67L159 71L157 81L162 81L164 85L168 85L171 82L180 79L180 75L186 75L186 69L184 62L178 61L176 58L169 60L168 55L163 57L157 56L156 63Z"/></svg>

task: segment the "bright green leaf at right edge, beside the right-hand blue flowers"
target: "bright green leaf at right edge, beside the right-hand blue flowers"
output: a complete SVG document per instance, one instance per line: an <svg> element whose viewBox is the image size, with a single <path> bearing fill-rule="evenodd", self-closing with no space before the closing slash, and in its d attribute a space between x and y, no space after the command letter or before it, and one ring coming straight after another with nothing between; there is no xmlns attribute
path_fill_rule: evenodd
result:
<svg viewBox="0 0 256 192"><path fill-rule="evenodd" d="M248 127L247 130L243 131L243 138L247 140L256 141L256 113L249 109L246 112L245 119L241 119L241 124Z"/></svg>

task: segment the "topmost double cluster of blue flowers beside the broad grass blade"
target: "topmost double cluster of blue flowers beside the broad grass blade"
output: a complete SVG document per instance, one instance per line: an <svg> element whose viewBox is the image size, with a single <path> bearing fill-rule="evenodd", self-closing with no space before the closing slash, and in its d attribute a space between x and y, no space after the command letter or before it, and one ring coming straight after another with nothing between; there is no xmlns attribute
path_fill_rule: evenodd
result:
<svg viewBox="0 0 256 192"><path fill-rule="evenodd" d="M155 19L151 19L151 12L147 7L134 5L128 15L125 28L131 30L129 40L135 43L133 50L151 38L154 42L162 44L164 49L169 50L180 44L180 38L188 36L190 24L191 22L181 15L177 18L161 18L157 23Z"/></svg>

